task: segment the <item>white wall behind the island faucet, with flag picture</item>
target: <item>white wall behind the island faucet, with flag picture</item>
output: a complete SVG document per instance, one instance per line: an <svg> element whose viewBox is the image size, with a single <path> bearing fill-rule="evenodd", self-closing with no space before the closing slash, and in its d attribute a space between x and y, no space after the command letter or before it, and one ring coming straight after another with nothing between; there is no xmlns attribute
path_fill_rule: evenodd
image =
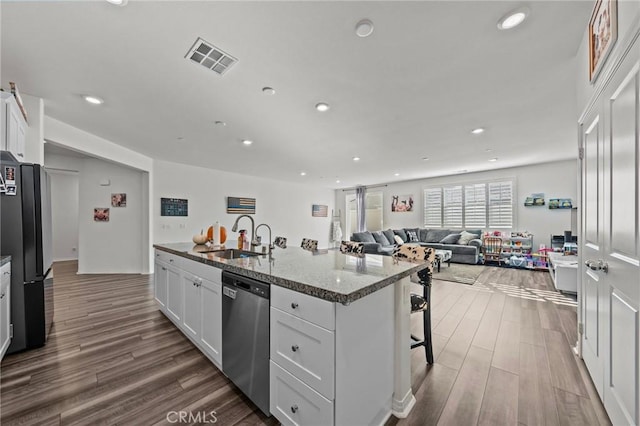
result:
<svg viewBox="0 0 640 426"><path fill-rule="evenodd" d="M227 246L233 246L238 234L231 232L231 226L238 215L226 213L226 197L232 196L255 198L255 224L267 223L273 237L286 237L292 246L300 245L303 237L317 239L320 247L329 246L333 190L165 161L154 161L153 176L156 243L191 241L194 234L201 229L206 231L218 220L227 228L230 240ZM160 216L160 198L188 199L189 216ZM312 204L328 205L328 216L312 217ZM239 229L250 229L249 220L242 219ZM265 242L268 231L261 228L259 234Z"/></svg>

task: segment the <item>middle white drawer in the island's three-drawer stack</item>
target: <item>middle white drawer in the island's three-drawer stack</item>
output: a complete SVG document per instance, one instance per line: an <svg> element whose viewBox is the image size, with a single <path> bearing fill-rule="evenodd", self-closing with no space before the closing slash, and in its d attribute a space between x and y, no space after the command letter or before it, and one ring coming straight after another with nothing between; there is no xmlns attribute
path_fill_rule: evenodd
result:
<svg viewBox="0 0 640 426"><path fill-rule="evenodd" d="M271 359L298 379L333 399L334 333L271 308Z"/></svg>

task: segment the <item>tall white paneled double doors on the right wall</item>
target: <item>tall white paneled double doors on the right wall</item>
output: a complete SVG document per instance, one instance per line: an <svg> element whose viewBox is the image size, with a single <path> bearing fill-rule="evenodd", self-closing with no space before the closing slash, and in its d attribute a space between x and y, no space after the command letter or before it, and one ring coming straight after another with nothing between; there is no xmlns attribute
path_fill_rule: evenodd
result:
<svg viewBox="0 0 640 426"><path fill-rule="evenodd" d="M638 47L587 115L582 135L582 353L614 425L640 422Z"/></svg>

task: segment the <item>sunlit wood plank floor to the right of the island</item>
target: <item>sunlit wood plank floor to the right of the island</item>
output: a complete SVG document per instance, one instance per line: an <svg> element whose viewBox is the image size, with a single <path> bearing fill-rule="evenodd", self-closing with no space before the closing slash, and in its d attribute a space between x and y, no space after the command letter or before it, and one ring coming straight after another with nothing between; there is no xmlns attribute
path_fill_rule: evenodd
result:
<svg viewBox="0 0 640 426"><path fill-rule="evenodd" d="M473 286L437 278L435 363L414 349L416 406L387 425L610 424L573 353L575 298L556 292L548 273L487 267ZM421 335L418 316L411 327Z"/></svg>

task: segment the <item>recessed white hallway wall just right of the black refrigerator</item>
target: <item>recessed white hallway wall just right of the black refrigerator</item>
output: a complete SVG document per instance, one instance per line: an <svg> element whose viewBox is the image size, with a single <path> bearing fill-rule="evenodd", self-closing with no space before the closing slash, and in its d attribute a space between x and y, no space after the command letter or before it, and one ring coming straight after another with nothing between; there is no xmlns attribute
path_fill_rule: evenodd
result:
<svg viewBox="0 0 640 426"><path fill-rule="evenodd" d="M78 172L49 171L53 261L78 259Z"/></svg>

